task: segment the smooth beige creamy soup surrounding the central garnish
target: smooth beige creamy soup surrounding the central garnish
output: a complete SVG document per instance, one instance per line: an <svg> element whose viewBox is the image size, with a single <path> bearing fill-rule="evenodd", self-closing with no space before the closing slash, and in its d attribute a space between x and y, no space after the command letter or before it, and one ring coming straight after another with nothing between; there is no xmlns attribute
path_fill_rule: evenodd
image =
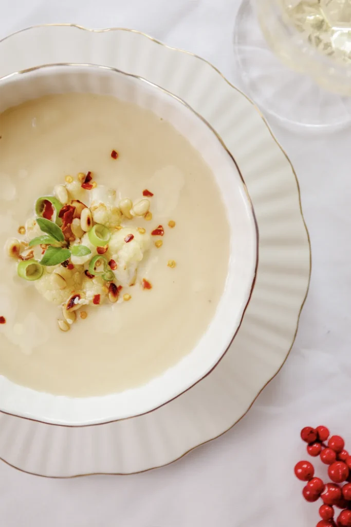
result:
<svg viewBox="0 0 351 527"><path fill-rule="evenodd" d="M199 153L152 112L93 94L45 96L9 109L0 115L0 136L3 246L21 238L18 228L38 197L88 171L116 189L117 204L151 191L152 219L122 225L165 231L161 247L151 237L135 285L123 288L130 299L89 307L67 332L57 326L59 307L19 278L4 252L0 374L38 391L103 395L144 384L188 354L214 316L229 257L224 205ZM141 287L143 278L152 289Z"/></svg>

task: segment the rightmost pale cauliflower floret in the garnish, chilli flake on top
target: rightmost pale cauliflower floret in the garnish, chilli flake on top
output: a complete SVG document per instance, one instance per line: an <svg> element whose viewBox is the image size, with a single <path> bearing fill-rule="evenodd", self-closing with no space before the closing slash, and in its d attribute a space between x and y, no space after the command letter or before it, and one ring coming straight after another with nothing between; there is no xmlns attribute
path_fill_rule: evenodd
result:
<svg viewBox="0 0 351 527"><path fill-rule="evenodd" d="M128 235L133 235L131 241L125 242ZM134 284L139 262L144 252L150 246L150 236L141 234L136 228L124 227L113 233L109 241L108 253L115 260L117 269L114 275L122 286Z"/></svg>

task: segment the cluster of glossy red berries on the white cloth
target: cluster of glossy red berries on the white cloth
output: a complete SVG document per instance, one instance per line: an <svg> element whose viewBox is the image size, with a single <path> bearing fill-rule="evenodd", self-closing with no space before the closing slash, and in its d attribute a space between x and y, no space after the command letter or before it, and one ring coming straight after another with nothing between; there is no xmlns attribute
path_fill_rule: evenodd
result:
<svg viewBox="0 0 351 527"><path fill-rule="evenodd" d="M307 444L307 452L328 466L328 475L333 483L323 483L319 477L314 477L314 467L309 461L299 461L295 465L295 474L301 481L307 481L302 493L309 502L322 498L323 505L319 508L322 518L316 527L351 527L351 455L344 450L345 442L339 435L329 437L325 426L312 428L306 426L301 431L301 437ZM328 441L329 438L329 441ZM326 444L326 441L328 443ZM339 483L345 483L340 486ZM334 521L334 506L343 509Z"/></svg>

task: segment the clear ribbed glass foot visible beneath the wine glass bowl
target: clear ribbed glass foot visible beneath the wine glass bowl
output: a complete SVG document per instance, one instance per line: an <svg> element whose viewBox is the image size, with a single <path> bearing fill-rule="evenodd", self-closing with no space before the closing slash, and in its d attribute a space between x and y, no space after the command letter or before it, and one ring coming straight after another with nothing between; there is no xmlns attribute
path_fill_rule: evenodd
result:
<svg viewBox="0 0 351 527"><path fill-rule="evenodd" d="M267 115L291 128L321 131L351 123L351 97L330 93L308 75L290 70L270 50L255 13L243 0L234 30L234 51L244 91Z"/></svg>

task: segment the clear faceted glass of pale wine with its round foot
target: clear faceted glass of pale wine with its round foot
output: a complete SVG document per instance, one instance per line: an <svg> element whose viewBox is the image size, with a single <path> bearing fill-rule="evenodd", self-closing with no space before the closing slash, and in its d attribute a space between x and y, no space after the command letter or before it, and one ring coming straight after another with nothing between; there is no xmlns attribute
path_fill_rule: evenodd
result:
<svg viewBox="0 0 351 527"><path fill-rule="evenodd" d="M351 0L243 0L234 48L264 112L309 129L351 123Z"/></svg>

